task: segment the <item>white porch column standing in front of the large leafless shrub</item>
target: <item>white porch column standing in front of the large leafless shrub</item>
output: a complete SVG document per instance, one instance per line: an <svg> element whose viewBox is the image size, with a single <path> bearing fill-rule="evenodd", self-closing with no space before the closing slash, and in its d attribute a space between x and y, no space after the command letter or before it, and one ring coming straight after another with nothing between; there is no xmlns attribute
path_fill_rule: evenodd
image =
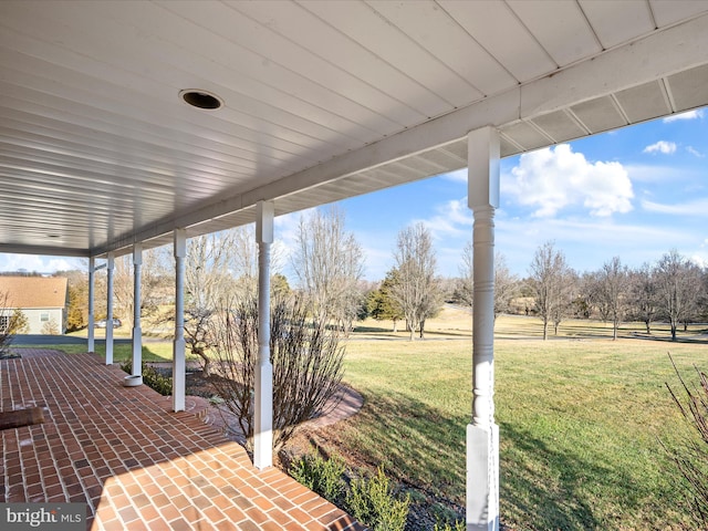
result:
<svg viewBox="0 0 708 531"><path fill-rule="evenodd" d="M270 363L270 244L273 242L274 206L257 205L258 241L258 360L256 367L253 465L273 465L273 366Z"/></svg>

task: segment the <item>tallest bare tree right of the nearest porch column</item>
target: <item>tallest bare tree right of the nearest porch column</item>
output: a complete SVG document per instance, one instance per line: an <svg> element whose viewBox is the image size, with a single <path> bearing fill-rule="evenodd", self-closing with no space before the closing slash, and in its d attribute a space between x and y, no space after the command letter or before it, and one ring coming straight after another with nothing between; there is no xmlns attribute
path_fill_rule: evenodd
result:
<svg viewBox="0 0 708 531"><path fill-rule="evenodd" d="M571 308L574 273L553 242L545 242L535 251L529 274L537 312L543 320L543 340L548 340L549 323L553 322L558 334L558 326Z"/></svg>

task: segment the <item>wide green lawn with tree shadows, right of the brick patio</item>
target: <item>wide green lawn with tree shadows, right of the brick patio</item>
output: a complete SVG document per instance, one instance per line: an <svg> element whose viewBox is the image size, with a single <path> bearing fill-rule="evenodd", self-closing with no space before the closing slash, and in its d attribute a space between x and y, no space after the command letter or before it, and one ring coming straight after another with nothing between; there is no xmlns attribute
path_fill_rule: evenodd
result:
<svg viewBox="0 0 708 531"><path fill-rule="evenodd" d="M537 320L513 319L498 323L508 336L513 323L535 330ZM568 335L589 326L604 335L587 322ZM678 343L497 340L502 521L514 530L695 529L658 439L685 434L665 387L677 384L667 353L687 375L694 363L708 368L696 333ZM351 341L346 381L366 404L330 430L330 444L464 504L470 367L470 340Z"/></svg>

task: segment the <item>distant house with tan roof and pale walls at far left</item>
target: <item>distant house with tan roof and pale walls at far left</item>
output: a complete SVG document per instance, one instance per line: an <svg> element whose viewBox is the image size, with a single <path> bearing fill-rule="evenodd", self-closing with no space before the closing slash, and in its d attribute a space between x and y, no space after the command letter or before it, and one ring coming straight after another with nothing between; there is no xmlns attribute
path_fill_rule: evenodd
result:
<svg viewBox="0 0 708 531"><path fill-rule="evenodd" d="M28 334L46 334L51 330L63 334L66 330L66 279L0 275L0 303L6 306L0 309L0 329L19 309L28 320Z"/></svg>

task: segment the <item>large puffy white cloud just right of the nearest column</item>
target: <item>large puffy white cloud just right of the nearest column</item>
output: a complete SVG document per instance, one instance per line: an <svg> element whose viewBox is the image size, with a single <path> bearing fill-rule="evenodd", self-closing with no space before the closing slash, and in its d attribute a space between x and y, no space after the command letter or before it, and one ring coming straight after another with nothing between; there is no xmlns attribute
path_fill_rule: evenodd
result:
<svg viewBox="0 0 708 531"><path fill-rule="evenodd" d="M590 163L569 144L521 155L504 177L502 197L535 207L534 217L553 217L576 206L600 217L632 210L632 181L622 164Z"/></svg>

